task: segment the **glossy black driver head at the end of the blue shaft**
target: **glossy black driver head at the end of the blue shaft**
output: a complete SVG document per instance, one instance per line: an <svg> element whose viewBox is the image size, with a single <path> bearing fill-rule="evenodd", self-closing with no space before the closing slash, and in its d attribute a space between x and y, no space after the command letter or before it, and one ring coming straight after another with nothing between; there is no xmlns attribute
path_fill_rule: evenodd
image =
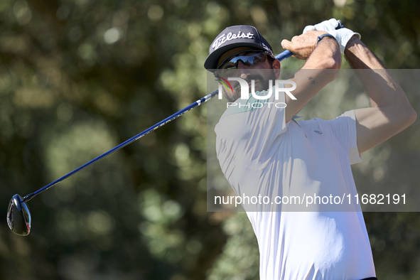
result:
<svg viewBox="0 0 420 280"><path fill-rule="evenodd" d="M16 235L28 235L31 231L31 212L21 195L14 195L7 209L7 225Z"/></svg>

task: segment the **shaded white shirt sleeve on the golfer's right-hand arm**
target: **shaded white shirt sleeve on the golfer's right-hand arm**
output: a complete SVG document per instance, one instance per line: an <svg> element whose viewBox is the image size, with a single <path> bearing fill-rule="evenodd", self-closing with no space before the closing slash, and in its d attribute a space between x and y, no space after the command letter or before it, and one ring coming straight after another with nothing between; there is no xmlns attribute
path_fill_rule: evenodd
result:
<svg viewBox="0 0 420 280"><path fill-rule="evenodd" d="M359 163L359 150L357 149L356 115L354 110L344 112L339 117L328 121L333 134L344 149L348 149L350 164Z"/></svg>

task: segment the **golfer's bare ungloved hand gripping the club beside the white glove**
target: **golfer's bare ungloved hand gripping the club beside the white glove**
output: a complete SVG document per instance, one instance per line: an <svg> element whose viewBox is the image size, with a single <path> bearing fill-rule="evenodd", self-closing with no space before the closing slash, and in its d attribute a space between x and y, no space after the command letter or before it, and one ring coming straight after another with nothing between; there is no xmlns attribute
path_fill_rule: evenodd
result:
<svg viewBox="0 0 420 280"><path fill-rule="evenodd" d="M318 43L318 36L325 34L325 31L308 31L300 36L294 36L289 40L281 41L281 46L294 53L295 58L306 60L315 50Z"/></svg>

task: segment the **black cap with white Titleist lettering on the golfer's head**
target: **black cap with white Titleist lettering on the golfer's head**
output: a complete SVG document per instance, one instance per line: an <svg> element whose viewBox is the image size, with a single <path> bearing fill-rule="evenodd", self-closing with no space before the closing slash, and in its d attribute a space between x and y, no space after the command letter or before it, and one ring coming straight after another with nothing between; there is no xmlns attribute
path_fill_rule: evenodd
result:
<svg viewBox="0 0 420 280"><path fill-rule="evenodd" d="M227 50L237 47L249 47L273 53L271 45L254 26L230 26L222 31L210 45L204 68L210 71L216 69L220 56Z"/></svg>

